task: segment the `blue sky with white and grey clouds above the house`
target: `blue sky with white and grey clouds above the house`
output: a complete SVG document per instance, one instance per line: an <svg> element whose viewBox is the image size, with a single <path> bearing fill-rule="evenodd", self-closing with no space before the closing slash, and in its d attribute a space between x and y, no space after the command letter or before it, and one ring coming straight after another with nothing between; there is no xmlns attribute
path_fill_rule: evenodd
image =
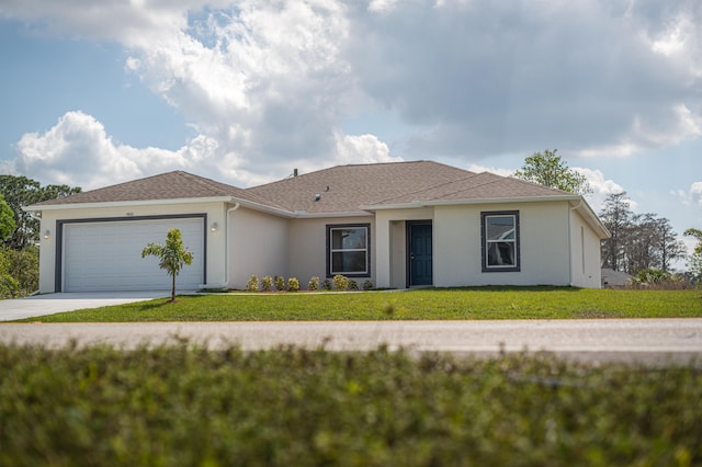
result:
<svg viewBox="0 0 702 467"><path fill-rule="evenodd" d="M596 212L625 191L681 235L702 229L700 25L699 0L0 0L0 172L247 187L557 149Z"/></svg>

